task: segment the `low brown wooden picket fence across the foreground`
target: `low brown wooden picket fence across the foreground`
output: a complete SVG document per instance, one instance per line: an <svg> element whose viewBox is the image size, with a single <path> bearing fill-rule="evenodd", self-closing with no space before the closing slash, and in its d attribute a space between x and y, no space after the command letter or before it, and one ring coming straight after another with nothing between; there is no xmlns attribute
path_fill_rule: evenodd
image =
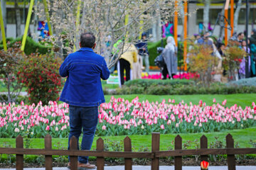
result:
<svg viewBox="0 0 256 170"><path fill-rule="evenodd" d="M166 144L168 145L168 144ZM208 161L208 154L227 154L228 169L235 169L235 154L256 154L256 148L234 148L232 135L226 136L225 149L208 149L208 142L205 135L200 139L201 149L182 149L182 138L175 137L174 150L159 151L160 134L152 133L151 152L132 152L132 142L129 137L124 138L124 152L104 151L104 142L102 138L97 140L96 151L78 150L78 141L73 136L70 140L70 150L52 149L51 136L45 137L45 149L24 149L23 138L16 137L16 148L0 147L0 154L16 154L16 169L23 169L23 154L41 154L46 156L46 170L53 169L52 155L70 155L71 169L78 169L78 156L97 157L97 169L104 169L105 157L124 158L125 170L132 169L132 158L149 158L151 159L151 169L159 169L160 157L174 157L174 166L176 170L182 169L182 156L201 155L201 161Z"/></svg>

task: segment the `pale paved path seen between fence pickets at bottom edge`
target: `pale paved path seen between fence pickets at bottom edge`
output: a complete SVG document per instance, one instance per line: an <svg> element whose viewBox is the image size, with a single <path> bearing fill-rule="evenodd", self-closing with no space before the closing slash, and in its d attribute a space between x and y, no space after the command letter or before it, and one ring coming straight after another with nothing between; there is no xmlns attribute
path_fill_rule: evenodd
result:
<svg viewBox="0 0 256 170"><path fill-rule="evenodd" d="M44 170L44 168L26 168L24 170ZM124 166L105 166L105 170L124 170ZM151 170L151 166L132 166L133 170ZM160 170L173 170L174 166L160 166ZM237 170L256 170L256 166L236 166ZM15 170L15 169L0 169ZM68 170L66 167L53 170ZM183 166L183 170L200 170L199 166ZM209 170L228 170L228 166L209 166Z"/></svg>

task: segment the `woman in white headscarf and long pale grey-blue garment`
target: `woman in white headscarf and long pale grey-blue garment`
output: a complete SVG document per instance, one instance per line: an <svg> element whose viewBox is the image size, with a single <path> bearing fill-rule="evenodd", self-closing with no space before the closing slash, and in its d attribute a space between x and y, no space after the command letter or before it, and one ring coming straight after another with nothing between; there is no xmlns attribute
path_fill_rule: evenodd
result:
<svg viewBox="0 0 256 170"><path fill-rule="evenodd" d="M162 74L164 79L167 78L167 74L169 74L169 79L173 79L173 76L177 73L178 67L176 56L177 47L173 37L168 37L166 42L167 45L162 53L165 62L164 68L162 69Z"/></svg>

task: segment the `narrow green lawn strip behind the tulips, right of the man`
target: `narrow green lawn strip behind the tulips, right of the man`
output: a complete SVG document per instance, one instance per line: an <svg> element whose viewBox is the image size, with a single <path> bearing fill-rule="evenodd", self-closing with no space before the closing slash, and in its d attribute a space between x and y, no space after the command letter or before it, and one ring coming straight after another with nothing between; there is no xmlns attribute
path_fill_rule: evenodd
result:
<svg viewBox="0 0 256 170"><path fill-rule="evenodd" d="M110 101L112 95L105 95L105 100ZM131 95L114 95L115 98L124 98L125 100L132 101L133 98L139 97L139 101L162 101L163 99L168 101L169 98L175 99L176 103L181 102L182 100L185 103L192 102L193 104L198 104L200 100L206 102L207 105L213 104L213 98L216 99L216 102L222 103L225 99L227 100L226 106L230 107L234 104L244 108L245 106L252 106L252 101L256 103L256 94L195 94L195 95L166 95L166 96L157 96L157 95L144 95L144 94L131 94Z"/></svg>

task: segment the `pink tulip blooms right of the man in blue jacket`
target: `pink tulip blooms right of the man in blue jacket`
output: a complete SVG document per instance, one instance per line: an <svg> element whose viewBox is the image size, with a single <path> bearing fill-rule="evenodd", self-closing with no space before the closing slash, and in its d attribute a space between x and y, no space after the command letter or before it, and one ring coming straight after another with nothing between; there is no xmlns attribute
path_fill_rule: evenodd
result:
<svg viewBox="0 0 256 170"><path fill-rule="evenodd" d="M206 106L206 103L199 101L198 105L186 104L183 101L175 104L174 99L161 103L142 101L134 98L132 102L125 101L124 98L114 98L112 96L109 103L102 103L100 106L99 122L102 130L107 130L108 125L123 126L124 129L145 128L145 126L159 126L162 130L168 125L174 124L176 128L182 123L193 123L194 126L201 127L209 122L240 123L252 120L256 123L256 106L252 103L252 108L242 109L236 104L230 108L225 107L226 100L222 105L215 103L213 106ZM109 126L110 128L110 126Z"/></svg>

